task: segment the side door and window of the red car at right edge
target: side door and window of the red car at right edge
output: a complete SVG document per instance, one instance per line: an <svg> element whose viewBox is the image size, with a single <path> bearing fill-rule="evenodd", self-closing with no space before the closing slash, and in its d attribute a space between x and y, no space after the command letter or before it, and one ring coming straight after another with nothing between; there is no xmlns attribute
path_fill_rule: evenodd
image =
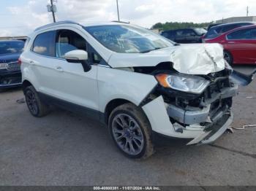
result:
<svg viewBox="0 0 256 191"><path fill-rule="evenodd" d="M234 63L256 63L256 28L244 28L227 34L227 50Z"/></svg>

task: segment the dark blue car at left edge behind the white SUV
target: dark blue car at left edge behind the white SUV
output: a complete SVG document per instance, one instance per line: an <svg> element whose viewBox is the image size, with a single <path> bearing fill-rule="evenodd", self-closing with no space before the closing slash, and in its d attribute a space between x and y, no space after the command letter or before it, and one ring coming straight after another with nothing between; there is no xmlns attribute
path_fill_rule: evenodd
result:
<svg viewBox="0 0 256 191"><path fill-rule="evenodd" d="M18 58L23 47L22 40L0 41L0 89L21 85Z"/></svg>

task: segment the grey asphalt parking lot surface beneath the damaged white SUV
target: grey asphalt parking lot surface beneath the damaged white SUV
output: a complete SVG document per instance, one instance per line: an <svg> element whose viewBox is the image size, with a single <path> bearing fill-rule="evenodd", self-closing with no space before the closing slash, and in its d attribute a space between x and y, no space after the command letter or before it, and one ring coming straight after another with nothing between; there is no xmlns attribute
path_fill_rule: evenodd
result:
<svg viewBox="0 0 256 191"><path fill-rule="evenodd" d="M256 124L256 80L239 91L235 128ZM99 122L60 109L35 118L20 98L19 88L0 93L0 185L256 185L256 128L211 145L165 141L138 161L124 157Z"/></svg>

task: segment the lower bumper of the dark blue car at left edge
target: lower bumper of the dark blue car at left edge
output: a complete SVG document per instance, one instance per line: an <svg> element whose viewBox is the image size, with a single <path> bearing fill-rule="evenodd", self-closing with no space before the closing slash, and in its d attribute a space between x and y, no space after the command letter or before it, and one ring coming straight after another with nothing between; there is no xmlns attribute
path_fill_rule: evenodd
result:
<svg viewBox="0 0 256 191"><path fill-rule="evenodd" d="M0 71L0 89L21 85L20 71Z"/></svg>

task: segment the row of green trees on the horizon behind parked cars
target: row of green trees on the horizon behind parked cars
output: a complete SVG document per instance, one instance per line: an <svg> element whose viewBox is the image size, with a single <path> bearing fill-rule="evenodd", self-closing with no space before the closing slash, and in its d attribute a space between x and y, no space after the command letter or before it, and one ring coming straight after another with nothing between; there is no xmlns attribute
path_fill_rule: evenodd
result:
<svg viewBox="0 0 256 191"><path fill-rule="evenodd" d="M151 28L152 29L159 29L159 30L163 30L163 31L174 30L174 29L179 29L179 28L205 28L211 23L166 22L166 23L156 23Z"/></svg>

